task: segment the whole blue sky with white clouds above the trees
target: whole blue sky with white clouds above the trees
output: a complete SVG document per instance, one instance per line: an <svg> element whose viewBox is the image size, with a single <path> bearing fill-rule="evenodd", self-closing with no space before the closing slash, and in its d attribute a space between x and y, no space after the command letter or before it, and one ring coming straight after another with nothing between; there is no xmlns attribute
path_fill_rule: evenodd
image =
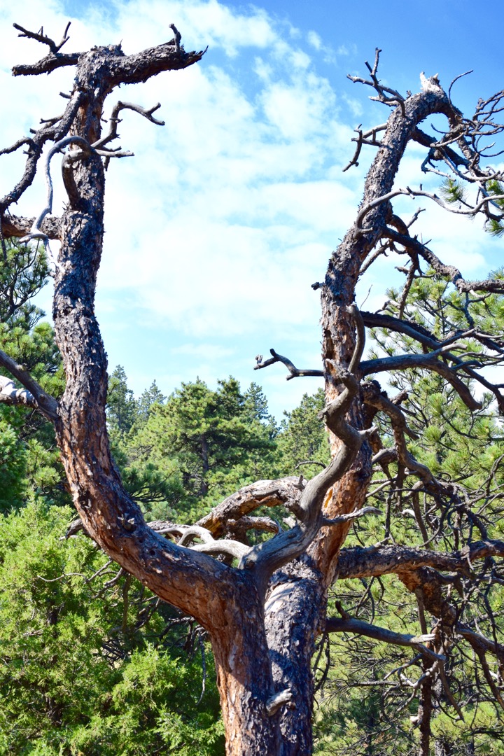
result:
<svg viewBox="0 0 504 756"><path fill-rule="evenodd" d="M353 153L354 127L380 123L388 113L346 74L365 73L377 45L382 79L403 92L419 88L421 71L439 73L449 85L474 68L454 91L459 107L470 110L479 96L504 86L502 6L478 14L467 0L25 0L13 11L0 0L2 92L4 102L17 104L2 119L2 144L59 112L57 93L72 80L69 70L13 80L11 66L41 51L17 39L11 23L43 24L59 39L70 18L68 50L122 40L126 52L137 51L169 39L171 22L186 49L209 45L196 67L120 92L144 106L160 101L166 125L128 113L121 144L135 157L113 163L107 176L97 314L110 369L122 364L137 394L154 379L165 393L196 375L210 385L230 374L243 387L255 380L280 417L317 379L286 382L278 366L254 372L254 356L273 346L298 367L320 366L320 308L311 283L323 277L352 222L373 154L357 169L342 167ZM21 163L19 156L2 160L3 192ZM399 180L422 181L421 162L421 151L411 150ZM20 212L39 212L44 192L40 179ZM401 209L412 214L417 204L404 200ZM468 277L499 265L502 241L485 237L478 222L445 218L435 208L421 217L419 230ZM379 306L391 283L394 261L385 260L370 271L357 303L370 288L366 307ZM48 311L50 294L48 288L41 299Z"/></svg>

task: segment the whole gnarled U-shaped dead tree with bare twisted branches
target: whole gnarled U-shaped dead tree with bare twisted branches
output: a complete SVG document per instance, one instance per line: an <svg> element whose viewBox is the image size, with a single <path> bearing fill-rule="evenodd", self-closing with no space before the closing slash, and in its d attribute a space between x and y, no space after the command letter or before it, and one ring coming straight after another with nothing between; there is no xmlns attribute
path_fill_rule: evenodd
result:
<svg viewBox="0 0 504 756"><path fill-rule="evenodd" d="M105 404L107 358L94 315L94 292L104 234L104 169L114 157L126 156L113 147L119 113L133 110L153 123L153 113L118 102L111 110L109 127L102 132L106 98L121 84L144 82L162 71L178 70L196 63L202 52L184 51L181 36L172 26L174 39L138 54L125 54L120 45L92 48L67 54L43 31L32 33L16 27L20 36L36 39L49 50L37 64L14 67L14 76L36 76L59 67L72 67L72 91L66 95L63 115L21 138L3 153L26 149L26 166L14 189L0 200L2 243L7 237L29 242L42 240L54 267L54 329L66 372L66 390L59 401L49 396L23 366L0 353L0 365L12 380L2 378L0 399L23 403L40 411L54 423L57 442L85 530L131 575L135 575L162 600L192 615L206 629L212 643L218 674L227 754L310 754L314 683L311 659L317 637L325 632L351 632L388 643L412 646L419 654L423 674L415 683L421 691L417 725L421 753L428 754L432 680L443 679L443 665L453 639L468 643L477 655L483 677L497 702L502 704L504 647L496 634L485 637L478 627L464 624L461 613L445 593L446 576L474 578L468 563L504 556L504 543L488 538L483 526L479 541L472 540L475 514L465 502L465 517L471 527L466 544L442 552L398 544L375 544L369 548L342 550L355 518L369 510L363 507L373 476L373 465L383 464L383 451L374 418L388 418L394 448L387 450L399 469L417 482L404 488L413 495L426 492L437 500L459 496L446 482L416 462L407 449L407 424L400 401L391 401L376 381L366 376L411 367L439 373L473 411L478 401L468 379L480 381L504 408L500 386L481 374L485 361L502 361L502 339L476 333L468 322L465 332L448 342L439 342L425 328L395 316L358 311L354 302L357 279L376 256L397 250L407 260L404 297L422 265L449 277L469 300L475 293L504 293L501 280L466 281L450 265L444 265L416 236L410 225L394 213L392 200L400 194L430 197L422 188L394 187L404 150L410 141L426 150L423 168L440 172L473 188L471 202L450 206L453 212L484 215L499 222L502 196L490 191L490 181L501 175L484 167L487 138L502 133L496 122L504 92L481 101L475 116L467 119L453 105L437 77L423 79L422 91L403 97L380 84L379 54L369 79L354 79L373 87L374 99L389 107L387 122L368 132L357 132L357 163L361 147L377 148L364 184L363 200L356 218L339 248L332 254L321 290L323 369L326 408L323 419L332 438L332 461L309 482L302 477L260 482L233 494L193 527L156 523L148 527L135 500L122 486L110 455ZM428 116L441 114L447 121L443 134L429 135L420 125ZM11 207L32 183L45 151L42 170L48 185L48 202L35 218L11 215ZM51 160L63 154L61 169L67 204L59 217L52 215ZM55 161L54 161L55 162ZM51 257L51 240L60 251ZM415 339L419 352L363 361L366 327L385 327ZM468 338L481 343L478 365L466 357ZM272 352L273 359L259 361L265 367L281 361L291 376L319 374L297 370L291 361ZM488 356L487 356L488 355ZM19 387L20 386L20 387ZM380 456L381 455L381 456ZM397 479L399 476L397 475ZM400 482L396 480L400 488ZM414 492L414 491L413 491ZM489 490L487 494L491 496ZM255 518L262 506L286 507L295 525L278 531L273 520ZM441 505L440 505L441 506ZM376 511L376 510L373 510ZM461 510L462 511L462 510ZM476 517L478 520L478 518ZM421 525L419 524L419 527ZM246 544L243 533L258 528L273 531L269 540ZM463 531L463 528L460 532ZM224 538L225 536L225 538ZM215 559L215 556L223 556ZM423 620L419 635L397 634L366 624L342 613L326 618L327 594L337 578L395 574L407 590L415 593L425 615L434 618L434 630ZM493 574L496 574L494 570ZM430 622L430 621L429 621ZM458 642L457 640L457 642ZM490 674L487 656L499 659L498 674ZM451 694L450 694L451 695ZM451 696L453 699L453 695ZM457 702L453 699L455 706Z"/></svg>

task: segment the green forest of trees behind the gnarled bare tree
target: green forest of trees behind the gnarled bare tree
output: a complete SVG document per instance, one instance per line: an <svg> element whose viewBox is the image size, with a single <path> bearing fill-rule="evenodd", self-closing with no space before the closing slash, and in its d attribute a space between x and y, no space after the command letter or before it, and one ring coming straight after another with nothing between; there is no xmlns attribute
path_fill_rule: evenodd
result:
<svg viewBox="0 0 504 756"><path fill-rule="evenodd" d="M59 397L64 377L54 335L29 304L47 275L44 257L29 247L9 249L1 269L0 346ZM397 304L394 290L388 294L391 313L405 308L440 340L462 323L460 296L432 271L415 281L406 304ZM497 322L502 331L502 297L489 295L471 307L475 328L485 332ZM479 348L475 343L475 353ZM376 330L371 349L393 355L413 351L413 343ZM484 523L489 538L504 538L504 445L492 396L482 394L481 409L471 413L442 376L420 369L392 374L388 392L400 397L407 413L409 448L419 463L440 479L463 479L476 497L492 487L495 494L475 515L475 529ZM135 398L118 366L110 376L107 430L125 486L146 519L196 522L249 483L310 478L326 465L328 438L318 417L323 405L321 390L305 394L277 423L260 386L243 390L232 377L214 389L196 379L169 396L153 382ZM422 437L416 432L421 428ZM394 439L389 441L392 447ZM69 537L75 510L51 424L31 409L0 404L0 455L0 754L222 754L205 634L120 570L82 531ZM391 485L400 476L401 485ZM427 494L411 488L408 498L407 491L407 471L391 456L377 467L369 494L379 513L355 521L347 543L456 544L456 515L444 520ZM283 527L285 512L264 515ZM465 621L497 641L502 590L495 590L499 581L486 581L485 570L496 575L492 560L485 565L473 605L465 602ZM450 590L462 590L455 578ZM331 606L342 617L350 613L400 633L420 633L432 624L391 576L339 581ZM314 660L316 752L416 752L419 688L408 676L421 664L414 648L322 634ZM488 673L488 680L475 678L474 659L453 652L450 686L435 696L437 754L504 753L502 708L492 689L493 669ZM463 703L463 716L450 708L450 690L456 707Z"/></svg>

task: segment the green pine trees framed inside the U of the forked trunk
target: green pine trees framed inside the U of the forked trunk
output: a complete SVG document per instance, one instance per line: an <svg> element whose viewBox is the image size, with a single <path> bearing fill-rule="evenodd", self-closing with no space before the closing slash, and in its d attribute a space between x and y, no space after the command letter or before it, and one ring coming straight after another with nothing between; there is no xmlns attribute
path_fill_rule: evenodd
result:
<svg viewBox="0 0 504 756"><path fill-rule="evenodd" d="M125 488L147 519L194 522L221 499L258 479L313 476L329 461L317 414L323 392L305 395L277 428L261 387L234 378L209 389L182 383L169 398L156 382L137 401L119 365L110 376L107 424Z"/></svg>

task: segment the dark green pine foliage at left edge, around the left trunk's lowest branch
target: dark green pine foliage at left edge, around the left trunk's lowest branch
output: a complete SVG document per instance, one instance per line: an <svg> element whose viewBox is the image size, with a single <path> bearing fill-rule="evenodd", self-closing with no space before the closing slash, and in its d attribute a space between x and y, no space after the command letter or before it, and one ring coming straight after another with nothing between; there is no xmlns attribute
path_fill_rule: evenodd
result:
<svg viewBox="0 0 504 756"><path fill-rule="evenodd" d="M7 246L0 253L0 349L58 397L64 390L60 353L44 313L29 303L48 276L45 254L30 246ZM0 407L2 467L0 512L22 506L30 494L69 503L54 429L41 415L23 407Z"/></svg>

